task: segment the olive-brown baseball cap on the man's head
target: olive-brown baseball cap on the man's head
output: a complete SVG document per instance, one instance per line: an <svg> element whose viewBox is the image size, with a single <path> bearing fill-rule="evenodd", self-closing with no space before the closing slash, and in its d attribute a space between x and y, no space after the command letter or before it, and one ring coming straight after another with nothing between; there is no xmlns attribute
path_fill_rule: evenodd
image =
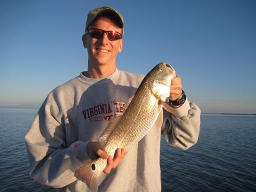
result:
<svg viewBox="0 0 256 192"><path fill-rule="evenodd" d="M110 6L101 6L89 11L87 15L86 24L85 24L85 31L88 29L88 26L93 22L96 16L99 14L108 14L109 16L115 17L118 25L121 28L123 28L123 17L121 13L119 13L117 10L115 10Z"/></svg>

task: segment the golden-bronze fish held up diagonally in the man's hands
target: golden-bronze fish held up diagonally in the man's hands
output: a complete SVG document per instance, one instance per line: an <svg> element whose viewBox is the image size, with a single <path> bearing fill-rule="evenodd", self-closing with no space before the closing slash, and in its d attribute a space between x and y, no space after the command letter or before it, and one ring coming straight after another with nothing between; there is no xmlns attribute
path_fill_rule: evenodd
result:
<svg viewBox="0 0 256 192"><path fill-rule="evenodd" d="M175 70L166 63L154 66L142 79L135 94L124 104L123 114L111 120L99 137L99 148L114 156L117 148L129 149L142 139L156 123L161 127L162 107L175 113L166 102L169 97L171 79ZM97 191L104 179L103 169L107 160L98 157L78 168L74 175L86 183L91 191Z"/></svg>

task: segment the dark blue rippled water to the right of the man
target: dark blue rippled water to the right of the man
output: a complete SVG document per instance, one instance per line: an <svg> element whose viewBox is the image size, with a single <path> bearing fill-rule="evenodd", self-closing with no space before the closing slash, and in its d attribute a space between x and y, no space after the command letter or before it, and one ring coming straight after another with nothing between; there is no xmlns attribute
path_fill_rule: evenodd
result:
<svg viewBox="0 0 256 192"><path fill-rule="evenodd" d="M256 191L256 116L201 115L198 142L161 143L162 191Z"/></svg>

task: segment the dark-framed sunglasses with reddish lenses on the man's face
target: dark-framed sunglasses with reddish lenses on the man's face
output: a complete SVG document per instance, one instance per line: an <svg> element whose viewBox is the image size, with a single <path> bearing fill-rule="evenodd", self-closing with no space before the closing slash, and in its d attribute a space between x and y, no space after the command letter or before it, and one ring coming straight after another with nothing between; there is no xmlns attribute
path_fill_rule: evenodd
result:
<svg viewBox="0 0 256 192"><path fill-rule="evenodd" d="M118 40L122 38L122 34L114 30L101 30L99 28L90 28L87 30L87 33L93 38L101 38L104 33L106 33L106 36L109 40Z"/></svg>

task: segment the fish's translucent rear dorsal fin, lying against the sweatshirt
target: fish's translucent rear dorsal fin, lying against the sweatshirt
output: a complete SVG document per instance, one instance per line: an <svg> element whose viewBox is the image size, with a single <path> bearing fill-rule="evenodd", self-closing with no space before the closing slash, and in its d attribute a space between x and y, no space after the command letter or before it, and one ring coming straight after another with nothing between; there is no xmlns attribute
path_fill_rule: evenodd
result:
<svg viewBox="0 0 256 192"><path fill-rule="evenodd" d="M104 148L109 135L111 134L113 128L115 127L115 124L117 123L117 121L119 120L120 117L121 117L121 115L110 120L109 123L107 124L106 128L101 133L101 135L98 139L100 149Z"/></svg>

